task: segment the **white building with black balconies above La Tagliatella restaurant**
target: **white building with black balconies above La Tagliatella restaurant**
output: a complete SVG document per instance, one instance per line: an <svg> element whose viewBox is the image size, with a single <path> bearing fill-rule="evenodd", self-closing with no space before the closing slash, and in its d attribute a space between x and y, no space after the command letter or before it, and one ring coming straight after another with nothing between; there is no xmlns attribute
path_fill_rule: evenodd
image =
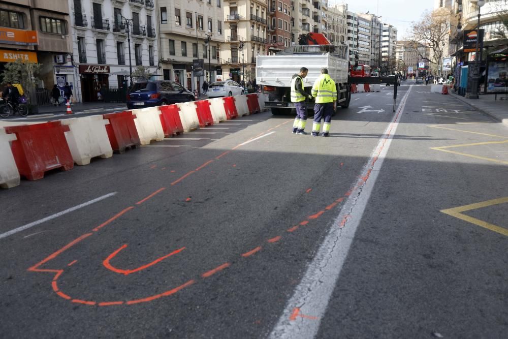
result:
<svg viewBox="0 0 508 339"><path fill-rule="evenodd" d="M69 8L74 12L72 50L80 79L74 95L79 101L98 101L101 87L125 91L131 67L144 66L157 74L152 0L69 0Z"/></svg>

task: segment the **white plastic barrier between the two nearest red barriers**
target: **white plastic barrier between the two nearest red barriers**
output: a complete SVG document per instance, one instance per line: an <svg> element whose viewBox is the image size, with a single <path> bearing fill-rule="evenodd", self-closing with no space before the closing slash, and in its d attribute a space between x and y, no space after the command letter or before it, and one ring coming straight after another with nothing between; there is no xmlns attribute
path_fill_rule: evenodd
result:
<svg viewBox="0 0 508 339"><path fill-rule="evenodd" d="M91 158L113 156L113 149L106 132L109 120L103 119L102 115L61 119L60 122L62 125L69 126L69 132L65 132L65 137L76 164L88 165Z"/></svg>

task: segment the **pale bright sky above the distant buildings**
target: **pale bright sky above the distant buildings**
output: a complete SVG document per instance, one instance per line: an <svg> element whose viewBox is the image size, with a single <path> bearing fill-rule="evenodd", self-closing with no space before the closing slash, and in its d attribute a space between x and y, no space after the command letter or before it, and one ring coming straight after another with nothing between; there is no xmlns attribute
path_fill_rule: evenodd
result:
<svg viewBox="0 0 508 339"><path fill-rule="evenodd" d="M332 4L347 4L351 12L376 14L382 16L381 21L397 28L397 40L407 37L406 31L411 21L419 21L425 10L432 11L433 0L329 0Z"/></svg>

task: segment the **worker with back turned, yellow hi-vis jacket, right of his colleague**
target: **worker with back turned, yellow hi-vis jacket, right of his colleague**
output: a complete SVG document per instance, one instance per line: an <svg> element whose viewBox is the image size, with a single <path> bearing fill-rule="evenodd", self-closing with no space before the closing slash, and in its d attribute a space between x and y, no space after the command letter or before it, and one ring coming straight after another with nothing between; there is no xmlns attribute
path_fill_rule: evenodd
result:
<svg viewBox="0 0 508 339"><path fill-rule="evenodd" d="M337 103L337 88L335 81L328 75L328 69L321 69L321 75L312 86L312 97L315 98L314 124L312 124L312 136L317 137L320 132L321 119L324 117L323 136L330 133L330 121Z"/></svg>

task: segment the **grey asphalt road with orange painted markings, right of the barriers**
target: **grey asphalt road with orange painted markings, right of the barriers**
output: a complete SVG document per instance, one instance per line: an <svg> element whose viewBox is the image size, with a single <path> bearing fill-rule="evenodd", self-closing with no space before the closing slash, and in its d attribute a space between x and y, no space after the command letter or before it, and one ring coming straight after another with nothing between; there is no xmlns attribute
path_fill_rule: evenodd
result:
<svg viewBox="0 0 508 339"><path fill-rule="evenodd" d="M0 191L0 335L507 337L508 130L392 89Z"/></svg>

